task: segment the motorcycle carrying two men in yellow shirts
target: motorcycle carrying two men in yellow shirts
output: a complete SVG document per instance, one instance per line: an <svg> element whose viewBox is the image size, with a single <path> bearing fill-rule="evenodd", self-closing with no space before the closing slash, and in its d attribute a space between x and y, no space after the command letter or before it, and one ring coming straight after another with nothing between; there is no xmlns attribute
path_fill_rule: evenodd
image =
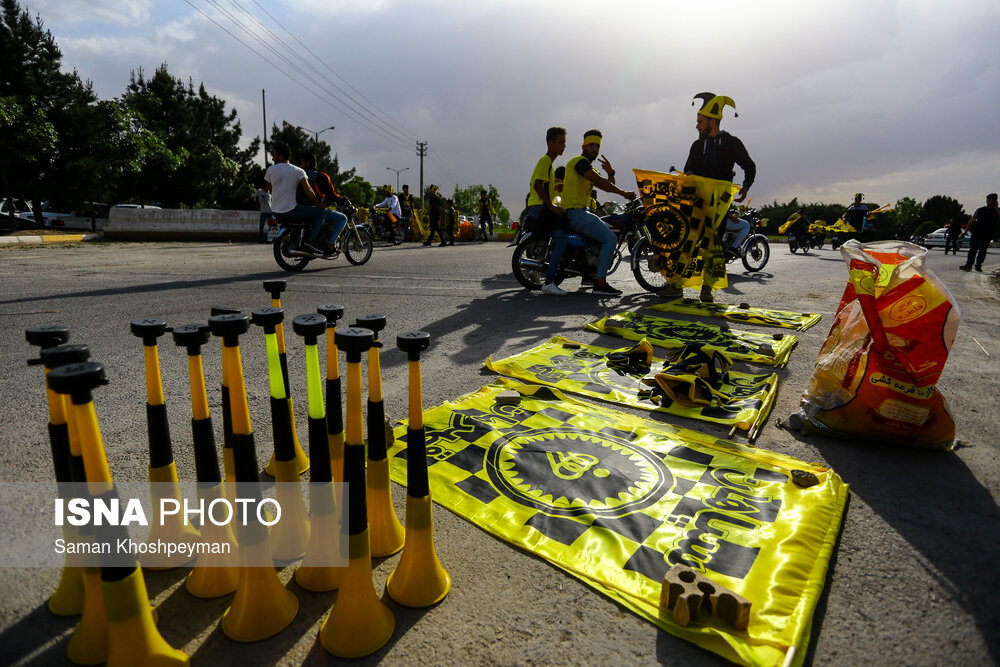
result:
<svg viewBox="0 0 1000 667"><path fill-rule="evenodd" d="M606 215L601 218L615 233L617 243L608 275L618 269L622 262L622 248L628 248L627 238L634 232L635 225L643 218L642 203L638 200L625 207L623 213ZM542 288L545 273L549 268L554 241L551 235L532 229L525 221L519 225L516 246L510 258L511 270L517 282L530 290ZM570 233L569 244L559 264L559 272L553 282L559 285L567 278L587 278L597 273L597 257L601 244L582 234Z"/></svg>

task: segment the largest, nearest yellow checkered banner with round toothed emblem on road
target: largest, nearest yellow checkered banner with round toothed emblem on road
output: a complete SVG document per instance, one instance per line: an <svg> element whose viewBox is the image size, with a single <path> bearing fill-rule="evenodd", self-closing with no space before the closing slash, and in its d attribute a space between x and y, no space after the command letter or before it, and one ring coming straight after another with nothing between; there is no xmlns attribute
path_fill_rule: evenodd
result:
<svg viewBox="0 0 1000 667"><path fill-rule="evenodd" d="M510 390L520 402L498 402ZM847 501L832 470L510 381L426 410L424 429L438 503L728 660L805 659ZM405 483L405 426L395 435ZM676 564L750 600L747 629L674 623L660 591Z"/></svg>

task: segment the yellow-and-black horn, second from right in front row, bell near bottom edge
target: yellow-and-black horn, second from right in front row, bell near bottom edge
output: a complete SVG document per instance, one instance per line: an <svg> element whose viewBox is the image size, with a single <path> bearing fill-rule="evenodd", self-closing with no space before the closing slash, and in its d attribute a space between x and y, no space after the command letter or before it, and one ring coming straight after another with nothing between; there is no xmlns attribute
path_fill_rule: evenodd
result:
<svg viewBox="0 0 1000 667"><path fill-rule="evenodd" d="M365 503L365 446L362 439L361 353L370 349L368 329L337 332L337 347L347 356L347 414L344 479L348 516L341 521L341 538L348 541L348 565L340 579L337 603L323 621L323 648L340 658L360 658L379 650L392 637L396 619L379 599L372 582L371 545Z"/></svg>

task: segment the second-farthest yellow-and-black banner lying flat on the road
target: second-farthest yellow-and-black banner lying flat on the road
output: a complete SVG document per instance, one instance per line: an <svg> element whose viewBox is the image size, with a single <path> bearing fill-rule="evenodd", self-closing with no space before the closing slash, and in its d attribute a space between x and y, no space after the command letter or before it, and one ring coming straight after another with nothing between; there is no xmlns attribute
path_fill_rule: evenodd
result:
<svg viewBox="0 0 1000 667"><path fill-rule="evenodd" d="M798 336L793 334L756 334L735 331L726 325L671 320L631 311L601 318L584 328L626 340L648 338L650 343L660 347L683 347L692 343L714 347L733 359L768 366L787 364L792 349L799 342Z"/></svg>

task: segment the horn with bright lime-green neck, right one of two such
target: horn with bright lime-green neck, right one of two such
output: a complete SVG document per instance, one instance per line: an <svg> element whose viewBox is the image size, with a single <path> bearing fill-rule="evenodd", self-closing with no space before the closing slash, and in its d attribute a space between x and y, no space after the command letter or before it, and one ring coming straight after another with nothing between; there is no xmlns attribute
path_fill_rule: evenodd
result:
<svg viewBox="0 0 1000 667"><path fill-rule="evenodd" d="M326 317L310 313L292 320L292 329L305 339L306 388L309 395L309 546L295 581L309 591L332 591L340 586L340 568L331 559L340 551L337 502L330 474L330 442L320 380L319 337L326 333Z"/></svg>

